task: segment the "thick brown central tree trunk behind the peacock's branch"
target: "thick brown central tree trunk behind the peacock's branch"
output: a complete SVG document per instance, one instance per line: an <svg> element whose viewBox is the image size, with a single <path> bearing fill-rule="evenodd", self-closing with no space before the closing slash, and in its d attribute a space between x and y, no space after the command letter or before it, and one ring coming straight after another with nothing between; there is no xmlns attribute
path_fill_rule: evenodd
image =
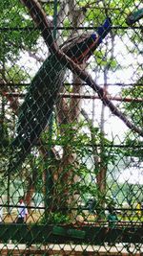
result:
<svg viewBox="0 0 143 256"><path fill-rule="evenodd" d="M83 12L80 10L75 10L75 2L69 1L69 12L72 21L72 26L77 27L80 25L83 19ZM75 12L78 13L75 15ZM82 18L80 18L82 17ZM73 75L72 77L72 93L80 94L82 92L81 80ZM64 93L66 89L62 88L62 93ZM69 102L70 101L70 102ZM75 124L79 121L80 114L80 99L67 100L61 98L56 105L58 124L61 125L70 125L72 128L72 138L76 136L77 127ZM60 128L60 133L65 136L66 130L64 130L63 126ZM70 141L70 140L69 140ZM63 147L63 156L61 160L60 166L57 168L56 175L54 176L54 183L56 184L56 195L58 206L62 208L62 212L66 213L67 209L76 206L77 197L75 196L76 192L72 191L72 185L75 184L79 180L79 176L77 175L78 170L78 162L77 155L72 151L70 143ZM60 193L59 193L60 192ZM62 196L62 197L61 197ZM75 217L73 211L71 211L72 220Z"/></svg>

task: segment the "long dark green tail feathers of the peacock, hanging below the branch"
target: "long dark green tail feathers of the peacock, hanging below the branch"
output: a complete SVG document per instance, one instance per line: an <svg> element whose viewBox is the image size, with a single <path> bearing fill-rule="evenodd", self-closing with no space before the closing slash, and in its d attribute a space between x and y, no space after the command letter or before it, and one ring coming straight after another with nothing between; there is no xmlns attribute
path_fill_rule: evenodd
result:
<svg viewBox="0 0 143 256"><path fill-rule="evenodd" d="M9 171L25 160L48 124L64 72L58 59L51 55L31 81L30 90L19 109L17 136L10 145L12 155Z"/></svg>

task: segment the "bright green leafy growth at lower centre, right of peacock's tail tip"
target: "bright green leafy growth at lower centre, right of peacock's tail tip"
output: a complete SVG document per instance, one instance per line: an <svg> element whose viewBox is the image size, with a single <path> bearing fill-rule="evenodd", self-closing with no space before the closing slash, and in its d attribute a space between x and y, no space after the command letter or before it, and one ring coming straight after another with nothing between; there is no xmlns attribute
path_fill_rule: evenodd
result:
<svg viewBox="0 0 143 256"><path fill-rule="evenodd" d="M95 180L95 176L100 171L100 165L98 165L96 168L94 167L94 163L92 161L92 145L96 147L96 145L100 143L102 136L104 146L106 147L106 152L104 152L104 164L106 166L115 162L119 150L112 148L112 142L103 136L99 128L92 128L92 133L94 136L91 138L90 133L88 134L87 132L83 131L83 128L86 129L86 127L87 123L83 122L79 122L78 124L71 123L61 125L62 133L57 133L57 137L52 138L52 145L58 145L64 149L64 151L67 149L67 153L69 155L72 153L76 154L76 159L64 166L65 174L72 170L72 175L77 175L80 177L79 182L72 183L71 186L68 187L69 195L72 195L74 192L78 192L81 197L91 195L91 197L96 197L98 200L100 198L101 200L103 195L98 195L100 192L97 184L93 181ZM55 136L55 133L53 134ZM98 152L98 157L100 157L100 152ZM58 168L59 163L60 161L55 160L55 158L48 158L47 168L55 170ZM60 191L62 193L63 183L58 184L58 192L60 193Z"/></svg>

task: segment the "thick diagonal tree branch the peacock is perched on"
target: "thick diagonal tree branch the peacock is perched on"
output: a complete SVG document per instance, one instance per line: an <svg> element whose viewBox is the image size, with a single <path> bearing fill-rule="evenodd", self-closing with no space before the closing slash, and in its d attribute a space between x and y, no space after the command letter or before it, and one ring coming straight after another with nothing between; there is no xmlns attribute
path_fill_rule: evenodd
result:
<svg viewBox="0 0 143 256"><path fill-rule="evenodd" d="M72 70L74 74L79 76L80 79L86 81L92 89L97 92L99 98L103 102L104 105L107 105L112 114L116 115L120 118L128 128L131 128L133 131L137 132L139 135L143 137L143 130L137 128L133 125L132 122L115 106L112 102L105 97L104 90L99 85L97 85L93 80L92 77L86 72L83 71L75 62L72 61L71 58L66 56L57 46L56 42L52 38L51 28L52 24L51 21L48 20L46 13L42 10L40 4L36 0L21 0L24 5L29 9L31 14L31 18L36 23L37 27L41 31L46 44L48 45L51 53L57 57L57 59L63 64L63 66L67 66L69 69Z"/></svg>

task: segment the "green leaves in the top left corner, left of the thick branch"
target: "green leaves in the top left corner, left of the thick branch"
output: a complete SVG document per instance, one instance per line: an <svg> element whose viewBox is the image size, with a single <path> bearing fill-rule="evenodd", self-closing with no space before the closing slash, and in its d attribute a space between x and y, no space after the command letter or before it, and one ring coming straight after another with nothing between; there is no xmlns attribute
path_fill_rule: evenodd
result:
<svg viewBox="0 0 143 256"><path fill-rule="evenodd" d="M32 49L39 36L20 1L2 1L0 13L0 59L13 60L23 47ZM24 30L22 30L24 28ZM25 29L27 28L27 29Z"/></svg>

